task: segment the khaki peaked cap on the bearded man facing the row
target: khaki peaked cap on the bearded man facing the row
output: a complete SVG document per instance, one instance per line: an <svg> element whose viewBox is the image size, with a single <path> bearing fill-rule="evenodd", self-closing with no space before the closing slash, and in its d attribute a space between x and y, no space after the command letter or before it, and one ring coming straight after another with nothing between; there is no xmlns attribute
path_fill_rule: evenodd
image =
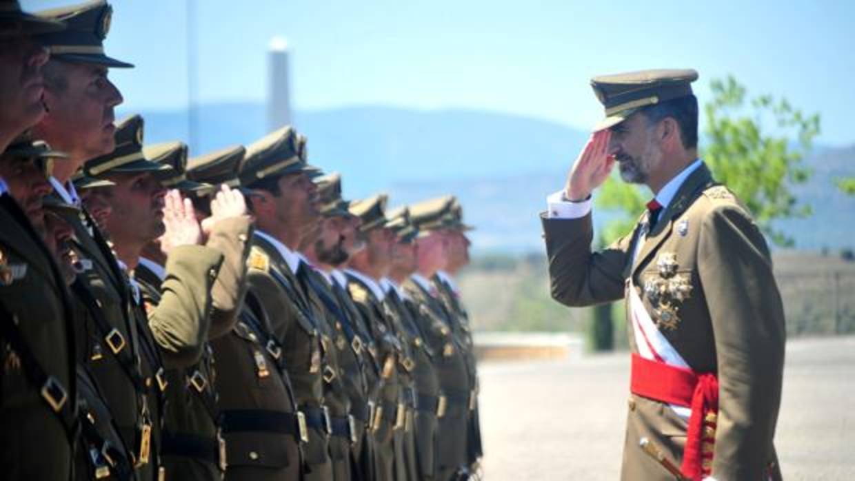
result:
<svg viewBox="0 0 855 481"><path fill-rule="evenodd" d="M643 70L591 79L591 87L605 108L605 118L594 130L616 126L639 109L692 95L694 70Z"/></svg>

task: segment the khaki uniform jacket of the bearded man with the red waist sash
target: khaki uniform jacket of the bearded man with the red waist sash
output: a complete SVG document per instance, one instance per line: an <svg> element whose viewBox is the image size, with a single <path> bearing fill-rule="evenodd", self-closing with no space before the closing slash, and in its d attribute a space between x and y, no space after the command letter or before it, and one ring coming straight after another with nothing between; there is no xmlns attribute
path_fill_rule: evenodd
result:
<svg viewBox="0 0 855 481"><path fill-rule="evenodd" d="M645 222L646 216L636 232ZM544 218L543 228L557 301L587 306L615 301L634 289L689 367L716 373L712 476L765 479L771 471L780 477L777 466L769 465L775 460L772 438L781 401L781 297L763 235L733 194L699 167L646 238L630 235L599 252L591 251L590 214ZM630 330L632 325L628 320ZM638 353L642 341L632 331L629 338ZM668 405L631 396L622 478L670 479L638 444L648 437L679 466L686 429L686 420Z"/></svg>

